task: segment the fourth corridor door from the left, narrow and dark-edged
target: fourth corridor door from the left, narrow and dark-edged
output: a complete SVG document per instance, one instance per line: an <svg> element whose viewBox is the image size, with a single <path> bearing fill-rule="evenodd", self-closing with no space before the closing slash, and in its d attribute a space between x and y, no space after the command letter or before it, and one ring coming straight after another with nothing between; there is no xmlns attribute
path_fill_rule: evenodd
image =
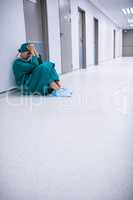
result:
<svg viewBox="0 0 133 200"><path fill-rule="evenodd" d="M99 33L99 22L98 19L94 18L94 64L98 65L99 63L99 52L98 52L98 48L99 48L99 37L98 37L98 33Z"/></svg>

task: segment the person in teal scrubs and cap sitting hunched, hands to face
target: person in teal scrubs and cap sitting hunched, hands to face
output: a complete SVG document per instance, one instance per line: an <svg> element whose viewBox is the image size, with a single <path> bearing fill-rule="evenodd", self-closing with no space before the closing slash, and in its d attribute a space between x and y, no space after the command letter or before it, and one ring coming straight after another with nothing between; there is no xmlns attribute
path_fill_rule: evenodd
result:
<svg viewBox="0 0 133 200"><path fill-rule="evenodd" d="M24 43L18 51L19 56L14 61L13 72L16 84L23 94L71 96L69 93L64 95L55 64L44 62L33 44Z"/></svg>

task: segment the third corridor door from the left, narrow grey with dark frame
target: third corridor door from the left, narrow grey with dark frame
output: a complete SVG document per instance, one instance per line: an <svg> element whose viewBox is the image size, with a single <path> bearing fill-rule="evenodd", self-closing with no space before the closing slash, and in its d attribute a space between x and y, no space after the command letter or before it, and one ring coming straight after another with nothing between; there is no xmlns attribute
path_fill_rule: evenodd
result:
<svg viewBox="0 0 133 200"><path fill-rule="evenodd" d="M86 21L85 11L78 9L79 13L79 65L86 68Z"/></svg>

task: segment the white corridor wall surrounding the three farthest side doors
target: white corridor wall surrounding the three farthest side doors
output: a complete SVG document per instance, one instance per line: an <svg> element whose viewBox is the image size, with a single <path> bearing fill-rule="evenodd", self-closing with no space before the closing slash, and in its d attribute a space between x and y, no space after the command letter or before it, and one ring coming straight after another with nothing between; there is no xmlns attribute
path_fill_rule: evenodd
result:
<svg viewBox="0 0 133 200"><path fill-rule="evenodd" d="M79 68L79 46L78 46L78 7L86 12L86 54L87 66L94 64L94 21L99 20L99 62L113 58L113 29L118 28L96 9L88 0L71 0L72 11L72 54L74 69ZM119 30L118 30L119 31ZM117 34L116 52L117 57L121 56L121 32Z"/></svg>

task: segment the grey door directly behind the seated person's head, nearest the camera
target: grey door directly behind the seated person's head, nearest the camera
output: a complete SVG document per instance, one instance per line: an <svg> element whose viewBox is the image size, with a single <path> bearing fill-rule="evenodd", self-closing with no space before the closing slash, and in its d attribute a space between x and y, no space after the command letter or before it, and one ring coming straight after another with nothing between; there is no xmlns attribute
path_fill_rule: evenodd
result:
<svg viewBox="0 0 133 200"><path fill-rule="evenodd" d="M49 58L45 0L23 0L27 42L33 42L43 59Z"/></svg>

